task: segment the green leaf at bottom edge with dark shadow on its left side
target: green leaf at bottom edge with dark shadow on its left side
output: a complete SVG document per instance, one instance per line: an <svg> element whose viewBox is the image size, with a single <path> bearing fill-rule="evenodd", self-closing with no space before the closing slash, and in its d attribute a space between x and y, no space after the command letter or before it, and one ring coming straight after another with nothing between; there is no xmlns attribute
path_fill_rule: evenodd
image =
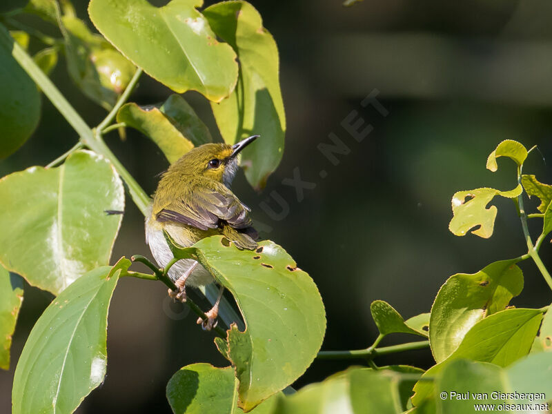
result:
<svg viewBox="0 0 552 414"><path fill-rule="evenodd" d="M167 384L167 400L175 414L237 414L237 380L234 368L210 364L184 366ZM277 395L255 407L253 414L273 411Z"/></svg>

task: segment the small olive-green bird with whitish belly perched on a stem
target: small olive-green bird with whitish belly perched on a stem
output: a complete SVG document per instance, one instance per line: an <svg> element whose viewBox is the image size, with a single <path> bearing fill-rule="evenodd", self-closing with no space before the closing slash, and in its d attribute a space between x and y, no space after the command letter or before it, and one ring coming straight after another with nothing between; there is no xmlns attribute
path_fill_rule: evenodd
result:
<svg viewBox="0 0 552 414"><path fill-rule="evenodd" d="M157 264L165 267L173 258L165 230L181 246L191 246L204 237L224 235L238 248L257 247L257 232L251 226L250 209L230 190L238 168L239 152L251 144L253 135L237 144L204 144L190 150L164 172L155 191L151 213L146 217L146 243ZM199 287L213 282L208 271L193 259L174 264L168 276L179 288L169 295L186 302L186 285ZM216 325L218 305L206 313L206 329ZM201 318L198 324L202 323Z"/></svg>

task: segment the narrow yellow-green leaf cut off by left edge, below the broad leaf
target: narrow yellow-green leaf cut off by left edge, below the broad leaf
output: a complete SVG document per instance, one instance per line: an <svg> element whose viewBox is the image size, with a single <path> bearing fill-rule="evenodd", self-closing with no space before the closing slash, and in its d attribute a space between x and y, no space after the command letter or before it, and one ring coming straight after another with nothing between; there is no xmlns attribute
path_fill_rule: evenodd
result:
<svg viewBox="0 0 552 414"><path fill-rule="evenodd" d="M0 368L10 369L12 335L23 302L23 279L0 266Z"/></svg>

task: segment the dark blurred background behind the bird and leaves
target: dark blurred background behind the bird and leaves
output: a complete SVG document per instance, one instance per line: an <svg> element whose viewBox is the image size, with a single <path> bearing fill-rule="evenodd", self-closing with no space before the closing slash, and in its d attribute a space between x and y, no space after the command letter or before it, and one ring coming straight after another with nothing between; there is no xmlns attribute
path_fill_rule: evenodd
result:
<svg viewBox="0 0 552 414"><path fill-rule="evenodd" d="M79 17L88 21L88 2L73 3ZM328 318L323 349L371 344L377 335L370 315L374 299L386 300L405 318L428 312L447 277L475 273L490 262L525 253L511 201L495 201L499 213L491 239L455 237L448 224L455 191L515 186L511 161L499 161L495 173L485 169L487 155L503 139L516 139L527 148L538 144L540 152L531 153L524 171L552 181L552 3L366 0L352 8L343 8L337 0L252 3L279 46L286 148L262 193L255 193L242 173L233 189L264 224L262 237L284 246L318 285ZM27 22L57 35L39 19ZM105 116L72 86L63 61L52 79L90 125ZM386 117L373 106L360 105L376 90ZM169 94L144 75L132 99L156 103ZM216 136L208 103L194 92L185 97ZM352 110L373 126L362 142L341 125ZM337 155L337 166L317 150L319 144L331 144L331 132L351 150ZM39 128L19 152L0 163L0 175L46 165L76 139L43 99ZM126 142L116 133L107 139L152 193L156 175L167 167L159 150L134 130L128 130ZM304 190L301 201L293 187L282 185L295 168L304 181L315 184ZM327 172L325 178L321 170ZM281 210L270 197L273 191L286 201L288 213L281 217L261 206L265 201L276 212ZM535 211L537 205L532 200L528 210ZM540 222L531 224L538 234ZM552 264L548 243L541 252L544 262ZM143 217L127 197L112 261L136 253L150 257ZM549 289L535 266L521 266L525 288L513 304L549 304ZM186 308L166 297L160 283L121 280L109 313L106 381L79 413L170 413L165 386L175 371L193 362L227 365L213 345L213 335L202 332ZM2 413L10 411L12 375L21 348L51 299L26 286L12 369L0 372ZM416 339L391 335L383 345ZM294 386L322 380L350 363L314 362ZM425 368L433 359L424 350L377 363Z"/></svg>

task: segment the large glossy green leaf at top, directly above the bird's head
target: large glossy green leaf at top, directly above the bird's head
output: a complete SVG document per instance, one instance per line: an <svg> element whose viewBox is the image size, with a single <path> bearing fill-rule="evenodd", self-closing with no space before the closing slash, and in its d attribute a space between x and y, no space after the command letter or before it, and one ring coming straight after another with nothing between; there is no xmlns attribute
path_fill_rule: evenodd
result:
<svg viewBox="0 0 552 414"><path fill-rule="evenodd" d="M219 43L196 10L202 0L172 0L156 8L146 0L92 0L96 28L148 75L175 90L197 90L221 101L237 80L236 55Z"/></svg>

